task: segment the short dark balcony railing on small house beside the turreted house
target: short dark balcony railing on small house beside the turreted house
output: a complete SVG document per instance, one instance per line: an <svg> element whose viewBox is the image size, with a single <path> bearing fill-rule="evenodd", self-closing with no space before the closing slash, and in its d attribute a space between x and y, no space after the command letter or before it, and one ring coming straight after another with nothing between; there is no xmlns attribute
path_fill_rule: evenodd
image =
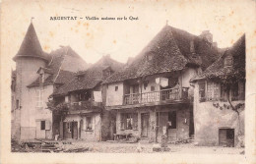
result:
<svg viewBox="0 0 256 164"><path fill-rule="evenodd" d="M94 108L101 108L102 103L96 102L93 100L79 101L79 102L71 102L69 107L71 110L90 110Z"/></svg>

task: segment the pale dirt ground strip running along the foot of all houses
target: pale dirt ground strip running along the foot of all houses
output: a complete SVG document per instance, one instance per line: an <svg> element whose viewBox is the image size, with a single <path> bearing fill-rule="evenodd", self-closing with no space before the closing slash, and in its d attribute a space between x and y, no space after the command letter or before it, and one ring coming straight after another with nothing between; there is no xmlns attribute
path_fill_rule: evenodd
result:
<svg viewBox="0 0 256 164"><path fill-rule="evenodd" d="M46 141L46 143L44 142ZM102 152L102 153L160 153L153 151L155 143L124 143L86 140L12 140L13 152ZM32 143L33 142L33 143ZM35 143L39 143L36 146ZM196 146L193 143L168 144L169 151L164 153L209 153L209 154L244 154L244 148L221 146ZM46 151L43 151L45 150Z"/></svg>

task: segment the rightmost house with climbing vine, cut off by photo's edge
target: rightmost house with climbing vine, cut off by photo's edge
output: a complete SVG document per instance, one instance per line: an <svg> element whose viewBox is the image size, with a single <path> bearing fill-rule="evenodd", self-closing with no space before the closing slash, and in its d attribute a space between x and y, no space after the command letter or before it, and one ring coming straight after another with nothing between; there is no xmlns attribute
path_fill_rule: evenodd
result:
<svg viewBox="0 0 256 164"><path fill-rule="evenodd" d="M195 141L235 146L244 136L245 35L191 82Z"/></svg>

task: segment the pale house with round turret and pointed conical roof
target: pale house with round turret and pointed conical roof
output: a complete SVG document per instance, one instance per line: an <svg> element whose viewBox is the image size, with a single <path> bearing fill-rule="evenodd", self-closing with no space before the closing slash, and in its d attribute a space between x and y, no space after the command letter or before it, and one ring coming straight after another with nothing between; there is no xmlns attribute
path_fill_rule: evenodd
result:
<svg viewBox="0 0 256 164"><path fill-rule="evenodd" d="M87 69L87 63L69 46L50 54L43 52L32 24L13 60L16 71L12 74L12 137L52 138L48 97L74 72Z"/></svg>

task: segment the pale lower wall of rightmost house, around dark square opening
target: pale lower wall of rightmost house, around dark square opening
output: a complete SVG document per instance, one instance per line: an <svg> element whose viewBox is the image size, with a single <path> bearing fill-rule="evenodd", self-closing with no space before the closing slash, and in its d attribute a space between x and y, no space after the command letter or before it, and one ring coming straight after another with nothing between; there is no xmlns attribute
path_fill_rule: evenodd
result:
<svg viewBox="0 0 256 164"><path fill-rule="evenodd" d="M198 84L195 85L194 94L194 126L195 141L199 145L219 145L219 129L234 129L234 145L238 141L238 132L244 135L244 107L239 109L239 118L236 112L229 109L214 107L214 103L220 106L229 105L228 102L206 101L199 102ZM232 101L233 105L244 101ZM239 128L240 127L240 128Z"/></svg>

